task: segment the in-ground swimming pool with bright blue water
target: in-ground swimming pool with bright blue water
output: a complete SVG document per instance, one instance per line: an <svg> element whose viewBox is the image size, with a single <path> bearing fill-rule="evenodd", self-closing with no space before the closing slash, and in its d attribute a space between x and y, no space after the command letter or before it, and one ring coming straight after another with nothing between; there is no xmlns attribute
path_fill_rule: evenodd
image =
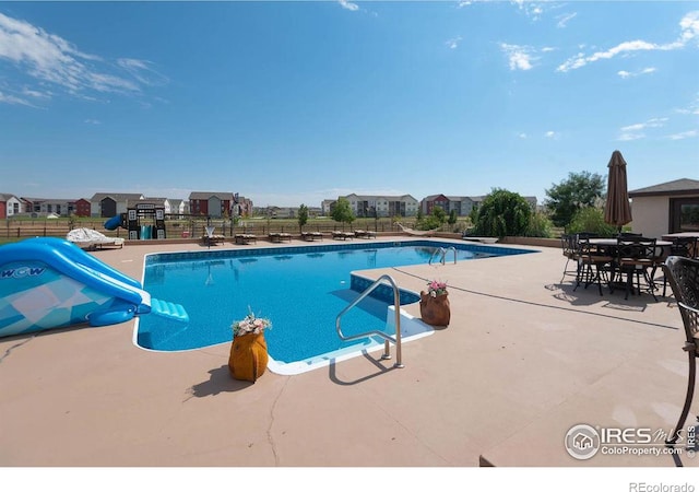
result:
<svg viewBox="0 0 699 492"><path fill-rule="evenodd" d="M531 253L422 239L147 255L144 289L154 297L181 304L190 321L143 316L134 341L157 351L227 343L230 325L252 311L273 325L265 331L270 370L295 374L330 359L382 347L382 340L343 342L337 337L337 314L371 283L352 271L424 265L439 247L452 246L458 260ZM379 289L375 294L343 317L345 335L372 329L394 332L393 315L387 319L392 291ZM401 292L402 305L418 300L415 293ZM404 340L431 332L431 327L406 315L401 327Z"/></svg>

